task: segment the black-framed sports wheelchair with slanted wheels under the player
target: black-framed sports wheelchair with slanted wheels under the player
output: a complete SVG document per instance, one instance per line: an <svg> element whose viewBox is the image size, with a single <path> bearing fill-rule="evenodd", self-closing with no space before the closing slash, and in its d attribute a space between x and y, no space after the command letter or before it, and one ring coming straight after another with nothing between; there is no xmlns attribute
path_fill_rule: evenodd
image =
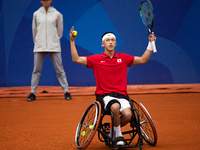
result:
<svg viewBox="0 0 200 150"><path fill-rule="evenodd" d="M79 150L86 149L92 142L96 131L98 139L113 149L138 147L140 150L143 146L143 140L149 145L155 146L157 143L157 132L153 120L138 100L130 99L132 119L122 127L124 145L117 145L118 139L113 138L114 122L113 113L104 110L103 100L96 94L96 101L89 104L85 109L76 130L75 143ZM121 140L120 140L121 141Z"/></svg>

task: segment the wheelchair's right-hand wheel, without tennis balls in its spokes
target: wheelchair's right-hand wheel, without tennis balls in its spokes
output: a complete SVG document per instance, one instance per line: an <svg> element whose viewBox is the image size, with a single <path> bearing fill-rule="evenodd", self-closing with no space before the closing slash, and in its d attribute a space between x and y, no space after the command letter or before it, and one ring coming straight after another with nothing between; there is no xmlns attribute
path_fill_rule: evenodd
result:
<svg viewBox="0 0 200 150"><path fill-rule="evenodd" d="M140 129L143 139L152 146L157 143L157 132L153 120L146 108L138 100L131 100L132 107L139 112Z"/></svg>

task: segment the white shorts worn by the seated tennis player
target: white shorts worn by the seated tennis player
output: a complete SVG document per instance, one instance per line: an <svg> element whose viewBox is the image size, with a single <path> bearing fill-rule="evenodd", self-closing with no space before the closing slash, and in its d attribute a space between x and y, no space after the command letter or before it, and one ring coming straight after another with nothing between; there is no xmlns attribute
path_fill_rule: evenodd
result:
<svg viewBox="0 0 200 150"><path fill-rule="evenodd" d="M120 112L122 112L125 108L131 107L130 103L128 100L126 100L125 98L116 98L116 97L112 97L112 96L105 96L103 98L104 101L104 109L106 110L107 104L111 101L111 100L117 100L121 107L120 107Z"/></svg>

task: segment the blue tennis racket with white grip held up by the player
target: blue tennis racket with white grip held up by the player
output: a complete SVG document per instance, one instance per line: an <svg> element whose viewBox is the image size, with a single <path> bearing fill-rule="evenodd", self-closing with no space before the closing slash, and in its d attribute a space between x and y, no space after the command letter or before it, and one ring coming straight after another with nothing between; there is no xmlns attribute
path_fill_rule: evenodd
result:
<svg viewBox="0 0 200 150"><path fill-rule="evenodd" d="M142 22L147 27L150 34L153 32L153 24L154 24L154 11L153 5L149 0L143 0L140 4L140 17ZM155 41L152 41L153 44L153 52L156 53L156 45Z"/></svg>

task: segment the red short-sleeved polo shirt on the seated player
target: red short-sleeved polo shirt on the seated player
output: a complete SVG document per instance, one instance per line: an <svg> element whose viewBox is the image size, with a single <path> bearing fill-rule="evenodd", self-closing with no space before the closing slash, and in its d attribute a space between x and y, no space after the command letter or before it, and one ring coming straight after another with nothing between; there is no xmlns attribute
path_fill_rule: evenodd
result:
<svg viewBox="0 0 200 150"><path fill-rule="evenodd" d="M127 95L127 67L131 67L134 56L125 53L109 55L95 54L86 56L88 68L92 68L96 79L96 93L116 92Z"/></svg>

